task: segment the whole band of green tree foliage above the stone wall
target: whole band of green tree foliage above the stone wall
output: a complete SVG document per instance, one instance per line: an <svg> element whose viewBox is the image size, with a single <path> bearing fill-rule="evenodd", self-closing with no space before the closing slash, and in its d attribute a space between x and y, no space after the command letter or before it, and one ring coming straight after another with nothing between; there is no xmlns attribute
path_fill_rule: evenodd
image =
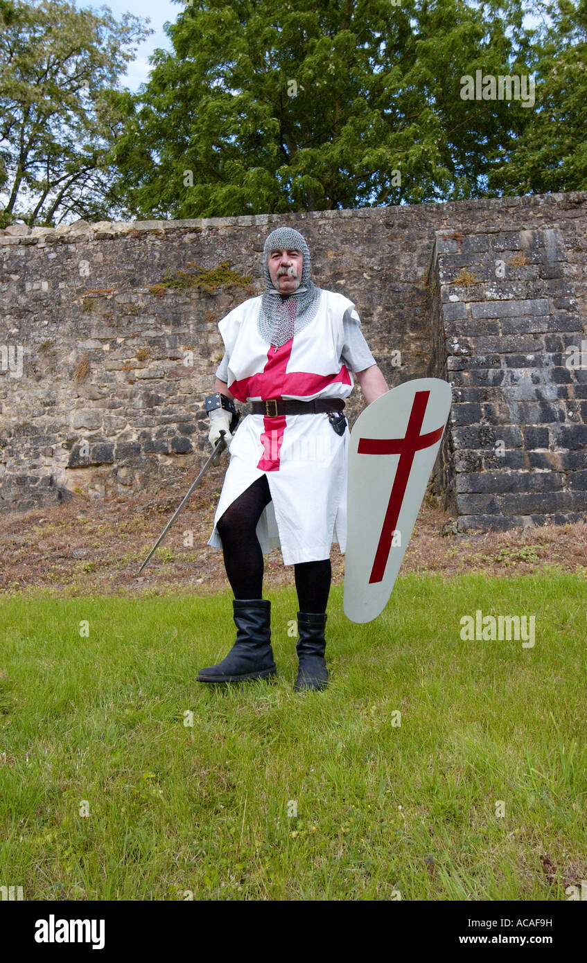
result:
<svg viewBox="0 0 587 963"><path fill-rule="evenodd" d="M131 93L138 18L0 0L0 226L583 190L587 0L525 2L190 0Z"/></svg>

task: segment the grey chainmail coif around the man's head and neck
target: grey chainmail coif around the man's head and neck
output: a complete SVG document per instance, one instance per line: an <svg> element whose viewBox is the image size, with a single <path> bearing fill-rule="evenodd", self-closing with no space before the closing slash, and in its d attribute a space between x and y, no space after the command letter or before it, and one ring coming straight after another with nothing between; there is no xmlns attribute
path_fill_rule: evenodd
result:
<svg viewBox="0 0 587 963"><path fill-rule="evenodd" d="M304 257L302 279L296 291L290 295L282 295L271 280L267 255L271 250L290 249L301 251ZM294 334L302 331L310 321L313 321L320 301L320 288L309 279L309 248L307 243L293 227L278 227L272 231L263 246L263 268L265 273L265 291L261 300L258 331L263 341L274 348L280 348Z"/></svg>

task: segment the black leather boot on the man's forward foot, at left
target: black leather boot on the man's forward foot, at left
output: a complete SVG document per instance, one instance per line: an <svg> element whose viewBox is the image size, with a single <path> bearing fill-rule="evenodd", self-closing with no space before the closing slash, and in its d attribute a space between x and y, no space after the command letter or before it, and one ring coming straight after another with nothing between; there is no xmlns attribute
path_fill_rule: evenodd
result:
<svg viewBox="0 0 587 963"><path fill-rule="evenodd" d="M242 682L276 675L271 648L271 602L233 599L236 641L218 665L200 669L198 682Z"/></svg>

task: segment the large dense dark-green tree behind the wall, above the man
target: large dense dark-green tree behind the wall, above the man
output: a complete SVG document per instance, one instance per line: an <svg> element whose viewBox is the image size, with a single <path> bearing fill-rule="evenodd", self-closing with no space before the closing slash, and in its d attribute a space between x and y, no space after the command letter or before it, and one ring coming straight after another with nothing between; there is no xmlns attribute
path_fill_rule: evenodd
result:
<svg viewBox="0 0 587 963"><path fill-rule="evenodd" d="M112 196L190 218L486 195L531 112L464 100L461 77L528 72L522 18L522 0L194 0L132 98Z"/></svg>

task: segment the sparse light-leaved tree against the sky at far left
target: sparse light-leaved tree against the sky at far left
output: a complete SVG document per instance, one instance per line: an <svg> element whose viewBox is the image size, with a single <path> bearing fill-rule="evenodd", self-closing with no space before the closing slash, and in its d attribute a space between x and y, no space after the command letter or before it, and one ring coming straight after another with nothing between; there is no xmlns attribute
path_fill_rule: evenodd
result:
<svg viewBox="0 0 587 963"><path fill-rule="evenodd" d="M131 112L118 77L152 33L141 22L0 0L0 226L109 215L112 147Z"/></svg>

